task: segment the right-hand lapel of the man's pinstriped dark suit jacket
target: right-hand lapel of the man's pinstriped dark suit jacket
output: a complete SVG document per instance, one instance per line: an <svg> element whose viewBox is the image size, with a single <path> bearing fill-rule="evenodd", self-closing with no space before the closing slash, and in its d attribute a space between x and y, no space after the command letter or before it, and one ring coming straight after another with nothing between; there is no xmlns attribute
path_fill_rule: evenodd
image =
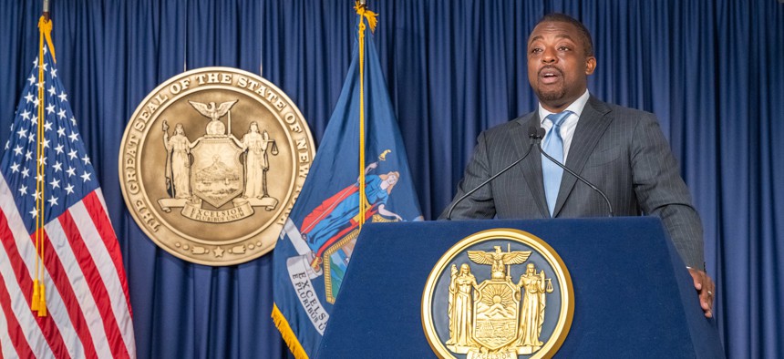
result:
<svg viewBox="0 0 784 359"><path fill-rule="evenodd" d="M613 118L608 116L609 112L610 108L602 101L593 96L588 98L580 120L577 122L577 128L574 129L572 146L566 157L566 167L576 173L583 171L585 162L591 156L593 149L596 148L599 138L602 138L604 131L610 126L610 122L613 121ZM542 177L541 171L540 165L540 177ZM566 199L569 198L569 194L572 193L576 181L577 179L574 176L564 171L561 188L558 190L558 199L555 200L553 217L557 216L558 212L561 211Z"/></svg>

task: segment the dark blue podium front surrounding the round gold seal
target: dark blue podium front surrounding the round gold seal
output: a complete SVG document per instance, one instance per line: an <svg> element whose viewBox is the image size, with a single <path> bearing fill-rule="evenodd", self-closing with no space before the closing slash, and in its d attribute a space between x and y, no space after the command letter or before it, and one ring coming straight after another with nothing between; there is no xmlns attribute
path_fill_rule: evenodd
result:
<svg viewBox="0 0 784 359"><path fill-rule="evenodd" d="M573 323L557 357L724 356L715 321L703 316L684 263L650 217L369 224L318 356L435 356L420 310L428 275L458 241L499 228L546 241L571 273Z"/></svg>

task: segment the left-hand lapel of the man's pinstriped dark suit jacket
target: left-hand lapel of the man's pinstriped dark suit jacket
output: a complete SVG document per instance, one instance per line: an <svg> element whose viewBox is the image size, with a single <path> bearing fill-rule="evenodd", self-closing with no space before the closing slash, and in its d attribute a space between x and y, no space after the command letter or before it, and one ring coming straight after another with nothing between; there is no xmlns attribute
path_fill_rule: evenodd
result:
<svg viewBox="0 0 784 359"><path fill-rule="evenodd" d="M528 128L531 126L540 128L541 124L538 111L533 111L522 118L518 118L517 122L520 126L512 129L511 137L514 138L514 148L518 158L520 158L528 150L528 147L531 146ZM540 156L537 156L538 154L538 149L531 149L531 153L526 159L522 160L521 166L518 166L518 168L522 171L522 176L528 184L529 190L531 190L533 201L536 203L539 211L542 212L542 217L549 218L550 210L547 209L547 200L544 198L542 159L540 159Z"/></svg>

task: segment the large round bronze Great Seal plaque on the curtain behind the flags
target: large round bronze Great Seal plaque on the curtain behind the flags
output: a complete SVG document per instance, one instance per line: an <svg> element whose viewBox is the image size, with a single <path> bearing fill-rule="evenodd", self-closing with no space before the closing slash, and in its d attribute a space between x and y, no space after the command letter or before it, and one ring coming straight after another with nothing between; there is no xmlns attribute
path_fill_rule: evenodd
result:
<svg viewBox="0 0 784 359"><path fill-rule="evenodd" d="M171 77L136 108L119 180L160 248L206 265L271 251L315 156L310 129L272 83L230 67Z"/></svg>

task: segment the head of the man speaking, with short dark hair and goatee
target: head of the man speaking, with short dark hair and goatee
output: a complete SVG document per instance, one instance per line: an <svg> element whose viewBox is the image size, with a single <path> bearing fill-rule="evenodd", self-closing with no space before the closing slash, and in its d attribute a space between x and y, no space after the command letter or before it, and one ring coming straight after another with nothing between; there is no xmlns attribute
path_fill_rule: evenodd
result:
<svg viewBox="0 0 784 359"><path fill-rule="evenodd" d="M596 59L585 56L583 37L575 26L543 22L528 40L528 81L542 107L561 112L585 92Z"/></svg>

